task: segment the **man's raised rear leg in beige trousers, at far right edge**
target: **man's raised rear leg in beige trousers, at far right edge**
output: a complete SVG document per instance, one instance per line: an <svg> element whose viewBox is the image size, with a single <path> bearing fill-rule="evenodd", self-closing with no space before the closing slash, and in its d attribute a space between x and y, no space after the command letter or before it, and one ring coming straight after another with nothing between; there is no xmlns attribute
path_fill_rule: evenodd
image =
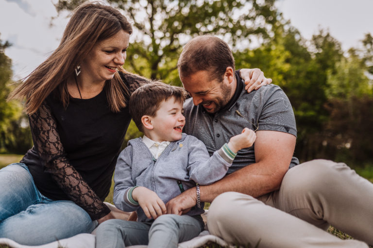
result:
<svg viewBox="0 0 373 248"><path fill-rule="evenodd" d="M344 163L312 160L290 169L275 206L317 227L329 224L373 244L373 184Z"/></svg>

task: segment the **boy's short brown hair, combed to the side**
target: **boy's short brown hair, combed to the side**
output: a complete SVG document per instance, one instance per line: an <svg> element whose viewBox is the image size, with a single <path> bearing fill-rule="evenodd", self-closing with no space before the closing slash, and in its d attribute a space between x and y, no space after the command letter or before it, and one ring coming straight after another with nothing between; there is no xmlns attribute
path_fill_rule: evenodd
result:
<svg viewBox="0 0 373 248"><path fill-rule="evenodd" d="M161 102L167 101L170 97L174 97L175 101L184 103L186 91L181 87L155 81L139 87L132 93L129 109L138 130L144 132L141 118L144 115L155 116Z"/></svg>

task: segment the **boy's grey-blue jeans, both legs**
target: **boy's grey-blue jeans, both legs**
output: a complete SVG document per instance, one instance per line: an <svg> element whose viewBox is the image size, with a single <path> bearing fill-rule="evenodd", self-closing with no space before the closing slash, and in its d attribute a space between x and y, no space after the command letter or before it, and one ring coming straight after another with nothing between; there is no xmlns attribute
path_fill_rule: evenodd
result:
<svg viewBox="0 0 373 248"><path fill-rule="evenodd" d="M96 230L96 248L123 248L148 245L148 248L177 248L203 231L201 216L162 215L153 223L109 219Z"/></svg>

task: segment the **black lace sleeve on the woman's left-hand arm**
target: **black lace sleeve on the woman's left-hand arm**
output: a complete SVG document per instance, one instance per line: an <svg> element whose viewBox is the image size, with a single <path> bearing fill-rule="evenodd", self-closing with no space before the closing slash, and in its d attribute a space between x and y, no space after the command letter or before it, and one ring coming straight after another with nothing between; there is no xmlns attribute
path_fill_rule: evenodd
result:
<svg viewBox="0 0 373 248"><path fill-rule="evenodd" d="M44 171L51 173L56 184L71 201L82 207L92 220L107 215L110 209L70 165L49 106L44 103L29 119L34 147L41 158Z"/></svg>

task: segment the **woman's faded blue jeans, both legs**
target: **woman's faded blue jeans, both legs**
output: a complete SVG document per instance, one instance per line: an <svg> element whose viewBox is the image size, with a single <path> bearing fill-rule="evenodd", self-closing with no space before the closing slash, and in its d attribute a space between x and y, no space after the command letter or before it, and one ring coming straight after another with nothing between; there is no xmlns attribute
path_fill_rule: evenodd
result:
<svg viewBox="0 0 373 248"><path fill-rule="evenodd" d="M71 201L53 201L34 184L26 165L0 170L0 238L22 245L43 245L97 226L87 212Z"/></svg>

